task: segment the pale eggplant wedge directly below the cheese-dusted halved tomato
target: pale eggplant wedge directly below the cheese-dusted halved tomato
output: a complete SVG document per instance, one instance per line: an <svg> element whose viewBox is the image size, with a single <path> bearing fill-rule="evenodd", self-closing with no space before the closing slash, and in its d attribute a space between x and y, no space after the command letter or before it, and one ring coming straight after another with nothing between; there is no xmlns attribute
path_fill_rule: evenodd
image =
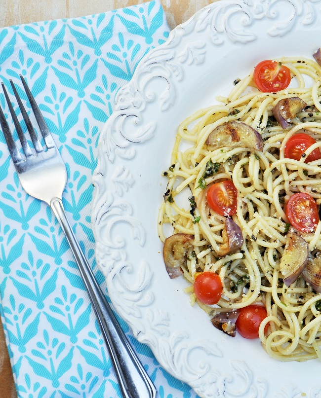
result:
<svg viewBox="0 0 321 398"><path fill-rule="evenodd" d="M290 286L301 275L309 259L309 245L299 235L289 232L286 235L284 251L280 261L283 282Z"/></svg>

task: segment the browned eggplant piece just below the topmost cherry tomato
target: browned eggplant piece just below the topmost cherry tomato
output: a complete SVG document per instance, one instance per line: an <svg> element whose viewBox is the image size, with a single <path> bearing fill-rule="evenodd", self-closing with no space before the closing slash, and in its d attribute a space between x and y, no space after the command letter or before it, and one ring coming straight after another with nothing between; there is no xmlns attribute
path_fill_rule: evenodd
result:
<svg viewBox="0 0 321 398"><path fill-rule="evenodd" d="M301 112L307 104L299 97L283 98L272 109L273 116L277 119L282 129Z"/></svg>

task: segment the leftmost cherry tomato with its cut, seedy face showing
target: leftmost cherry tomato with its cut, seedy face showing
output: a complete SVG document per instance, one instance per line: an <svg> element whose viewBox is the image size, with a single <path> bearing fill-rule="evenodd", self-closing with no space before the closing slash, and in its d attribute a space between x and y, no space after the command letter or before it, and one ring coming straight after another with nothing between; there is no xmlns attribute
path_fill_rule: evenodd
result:
<svg viewBox="0 0 321 398"><path fill-rule="evenodd" d="M206 193L208 206L220 216L236 214L238 192L232 180L215 182Z"/></svg>

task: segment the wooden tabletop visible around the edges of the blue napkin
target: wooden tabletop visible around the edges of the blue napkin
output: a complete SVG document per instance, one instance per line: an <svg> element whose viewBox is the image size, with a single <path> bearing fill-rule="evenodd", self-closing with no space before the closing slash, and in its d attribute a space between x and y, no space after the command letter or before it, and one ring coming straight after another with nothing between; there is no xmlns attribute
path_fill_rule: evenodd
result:
<svg viewBox="0 0 321 398"><path fill-rule="evenodd" d="M51 19L80 17L110 11L147 0L0 0L0 28ZM173 29L213 0L161 0ZM0 398L17 397L0 322Z"/></svg>

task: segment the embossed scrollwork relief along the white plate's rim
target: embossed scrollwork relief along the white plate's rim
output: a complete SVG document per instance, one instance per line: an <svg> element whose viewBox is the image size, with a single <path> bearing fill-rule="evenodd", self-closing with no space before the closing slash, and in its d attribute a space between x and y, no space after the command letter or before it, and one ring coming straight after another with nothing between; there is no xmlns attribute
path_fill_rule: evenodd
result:
<svg viewBox="0 0 321 398"><path fill-rule="evenodd" d="M151 266L146 261L137 261L134 266L126 252L126 242L130 239L140 246L147 239L144 223L122 199L136 182L130 161L135 158L136 145L150 141L157 128L155 120L145 117L146 109L157 102L164 115L173 107L186 68L200 68L213 45L218 50L227 42L252 42L257 39L255 24L264 26L266 36L284 36L296 25L304 28L314 24L319 4L319 0L222 0L203 8L143 58L131 81L120 89L114 113L101 132L93 178L96 194L92 219L97 263L107 279L117 311L137 339L149 345L161 365L190 384L202 398L266 398L268 382L256 378L254 369L242 361L231 361L228 369L220 368L219 360L224 354L213 342L191 344L186 331L172 332L168 311L153 306ZM186 39L189 37L191 40ZM156 80L157 84L153 84ZM123 163L119 165L119 161ZM107 176L111 176L116 186L114 193ZM123 222L130 225L131 238L115 235L115 225ZM135 283L127 283L129 274L135 276ZM201 358L205 358L197 368L191 360L195 350L200 350ZM314 397L319 397L320 390L314 392ZM291 398L294 397L296 393Z"/></svg>

